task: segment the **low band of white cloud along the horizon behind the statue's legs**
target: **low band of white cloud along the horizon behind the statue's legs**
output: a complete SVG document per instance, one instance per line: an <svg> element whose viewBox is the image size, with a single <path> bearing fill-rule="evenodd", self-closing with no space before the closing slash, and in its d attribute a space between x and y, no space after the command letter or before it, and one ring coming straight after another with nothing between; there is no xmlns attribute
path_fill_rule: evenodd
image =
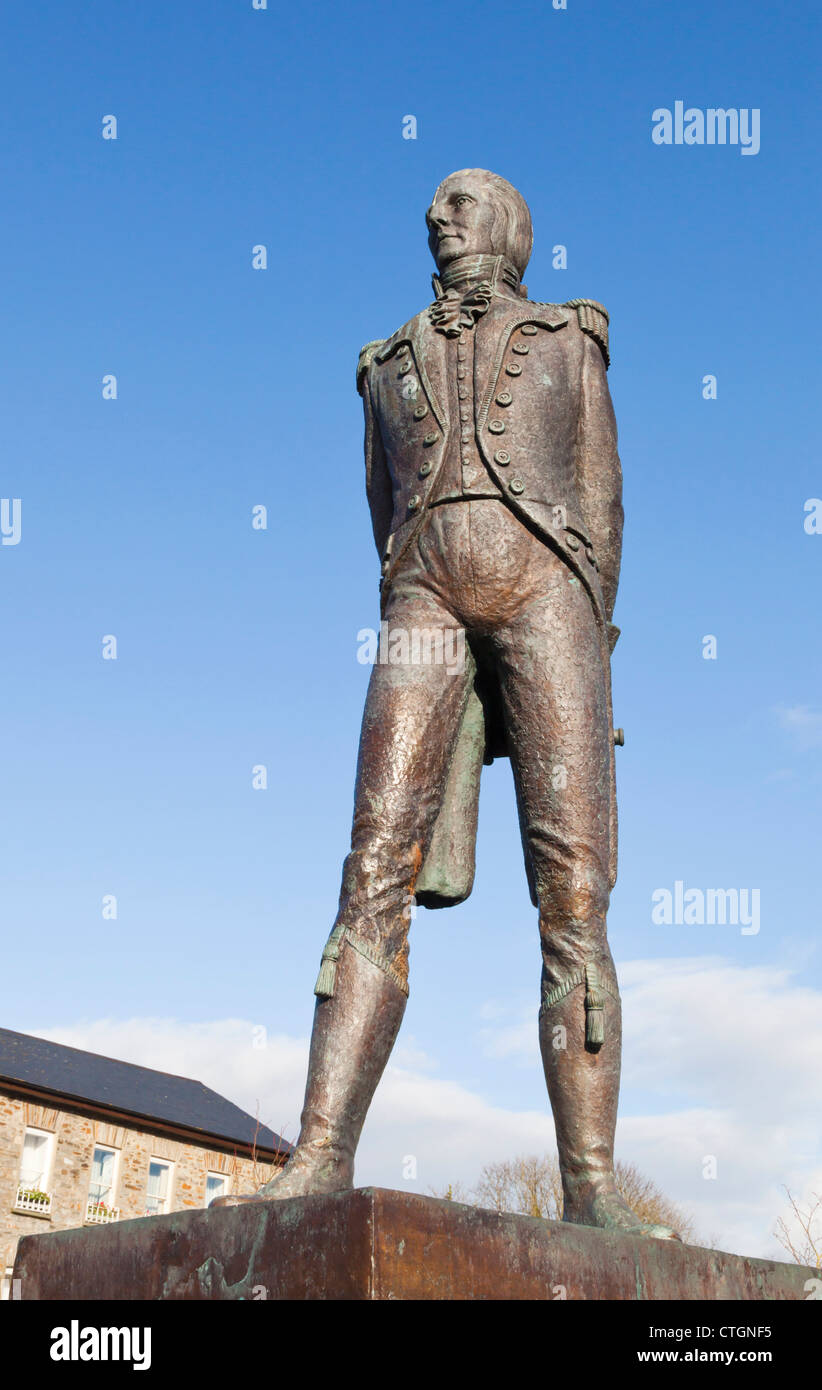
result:
<svg viewBox="0 0 822 1390"><path fill-rule="evenodd" d="M782 1184L822 1188L819 1076L822 995L789 972L718 958L634 960L620 970L626 1036L618 1154L690 1208L707 1240L784 1258L772 1237ZM487 1052L533 1056L534 1020L499 1002L483 1011ZM491 1019L495 1027L490 1027ZM195 1076L287 1138L299 1129L307 1038L270 1036L227 1019L97 1020L40 1036ZM428 1191L470 1187L484 1162L554 1148L545 1109L492 1105L437 1068L413 1038L398 1047L377 1091L357 1156L357 1183ZM714 1156L716 1177L705 1179ZM416 1179L406 1179L408 1161Z"/></svg>

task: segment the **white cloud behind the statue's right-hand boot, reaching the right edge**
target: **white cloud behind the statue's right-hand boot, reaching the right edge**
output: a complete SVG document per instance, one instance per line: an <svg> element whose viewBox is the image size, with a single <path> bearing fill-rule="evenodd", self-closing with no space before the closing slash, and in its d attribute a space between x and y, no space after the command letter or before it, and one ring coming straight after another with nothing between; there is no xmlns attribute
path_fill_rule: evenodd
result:
<svg viewBox="0 0 822 1390"><path fill-rule="evenodd" d="M715 956L620 966L618 1154L691 1209L705 1238L779 1258L783 1186L822 1187L822 994L790 972ZM533 1054L533 1011L483 1029L485 1051ZM652 1112L652 1113L650 1113ZM707 1159L716 1161L716 1177Z"/></svg>

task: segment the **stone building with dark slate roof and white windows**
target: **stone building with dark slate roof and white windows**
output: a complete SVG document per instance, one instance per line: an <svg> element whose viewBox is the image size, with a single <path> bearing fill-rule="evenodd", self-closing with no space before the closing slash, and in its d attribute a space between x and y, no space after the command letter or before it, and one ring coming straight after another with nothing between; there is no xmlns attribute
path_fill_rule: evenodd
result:
<svg viewBox="0 0 822 1390"><path fill-rule="evenodd" d="M21 1236L252 1193L291 1145L200 1081L0 1029L0 1275Z"/></svg>

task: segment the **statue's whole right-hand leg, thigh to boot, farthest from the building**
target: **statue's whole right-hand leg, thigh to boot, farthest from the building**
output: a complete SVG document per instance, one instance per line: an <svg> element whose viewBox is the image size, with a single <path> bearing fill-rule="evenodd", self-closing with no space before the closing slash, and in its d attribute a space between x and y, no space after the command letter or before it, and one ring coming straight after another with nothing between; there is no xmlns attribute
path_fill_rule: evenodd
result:
<svg viewBox="0 0 822 1390"><path fill-rule="evenodd" d="M555 567L552 567L555 573ZM563 1220L677 1238L613 1177L622 1019L606 938L612 730L598 628L567 571L497 634L523 840L540 902L540 1048Z"/></svg>

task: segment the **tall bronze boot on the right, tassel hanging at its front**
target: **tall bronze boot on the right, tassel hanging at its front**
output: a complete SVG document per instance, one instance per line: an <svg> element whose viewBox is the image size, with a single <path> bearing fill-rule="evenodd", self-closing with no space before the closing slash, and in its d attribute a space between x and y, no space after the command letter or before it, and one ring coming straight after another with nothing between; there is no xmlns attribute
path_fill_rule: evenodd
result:
<svg viewBox="0 0 822 1390"><path fill-rule="evenodd" d="M576 980L576 983L574 983ZM631 1236L680 1240L670 1227L641 1220L613 1177L613 1136L622 1062L622 1005L594 967L555 990L540 1013L540 1051L556 1126L562 1219ZM583 999L583 986L586 994ZM559 997L558 997L559 995ZM565 1048L555 1047L565 1029Z"/></svg>

